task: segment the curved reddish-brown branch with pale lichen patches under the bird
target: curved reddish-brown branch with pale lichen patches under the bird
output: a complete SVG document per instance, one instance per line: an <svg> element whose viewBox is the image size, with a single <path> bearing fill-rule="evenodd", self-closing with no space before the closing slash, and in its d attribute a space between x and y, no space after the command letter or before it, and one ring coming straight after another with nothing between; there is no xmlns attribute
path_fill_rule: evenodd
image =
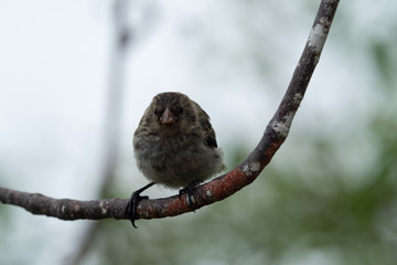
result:
<svg viewBox="0 0 397 265"><path fill-rule="evenodd" d="M137 208L137 220L160 219L194 211L234 194L259 176L289 134L292 119L319 62L337 4L339 0L321 1L286 95L266 127L262 138L248 158L228 173L196 187L193 195L141 201ZM22 206L33 214L44 214L61 220L130 219L125 214L128 203L125 199L77 201L0 188L0 201Z"/></svg>

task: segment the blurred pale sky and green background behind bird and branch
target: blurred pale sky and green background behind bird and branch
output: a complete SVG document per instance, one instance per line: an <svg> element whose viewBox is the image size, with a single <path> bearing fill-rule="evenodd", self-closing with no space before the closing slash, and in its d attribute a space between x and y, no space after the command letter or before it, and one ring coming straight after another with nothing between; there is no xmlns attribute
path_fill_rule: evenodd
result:
<svg viewBox="0 0 397 265"><path fill-rule="evenodd" d="M165 91L210 114L233 169L281 100L319 2L1 1L0 186L129 198L147 183L132 134ZM138 230L1 204L0 263L395 264L396 12L341 1L290 135L249 187Z"/></svg>

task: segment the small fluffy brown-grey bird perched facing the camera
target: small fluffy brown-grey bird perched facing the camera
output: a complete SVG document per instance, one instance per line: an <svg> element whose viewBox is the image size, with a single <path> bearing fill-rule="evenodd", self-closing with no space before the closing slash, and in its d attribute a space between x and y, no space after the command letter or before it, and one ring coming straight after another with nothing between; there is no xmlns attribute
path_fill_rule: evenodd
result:
<svg viewBox="0 0 397 265"><path fill-rule="evenodd" d="M180 195L226 169L208 115L186 95L154 96L133 134L138 168L151 182L135 191L126 208L135 225L140 193L154 183L183 188Z"/></svg>

